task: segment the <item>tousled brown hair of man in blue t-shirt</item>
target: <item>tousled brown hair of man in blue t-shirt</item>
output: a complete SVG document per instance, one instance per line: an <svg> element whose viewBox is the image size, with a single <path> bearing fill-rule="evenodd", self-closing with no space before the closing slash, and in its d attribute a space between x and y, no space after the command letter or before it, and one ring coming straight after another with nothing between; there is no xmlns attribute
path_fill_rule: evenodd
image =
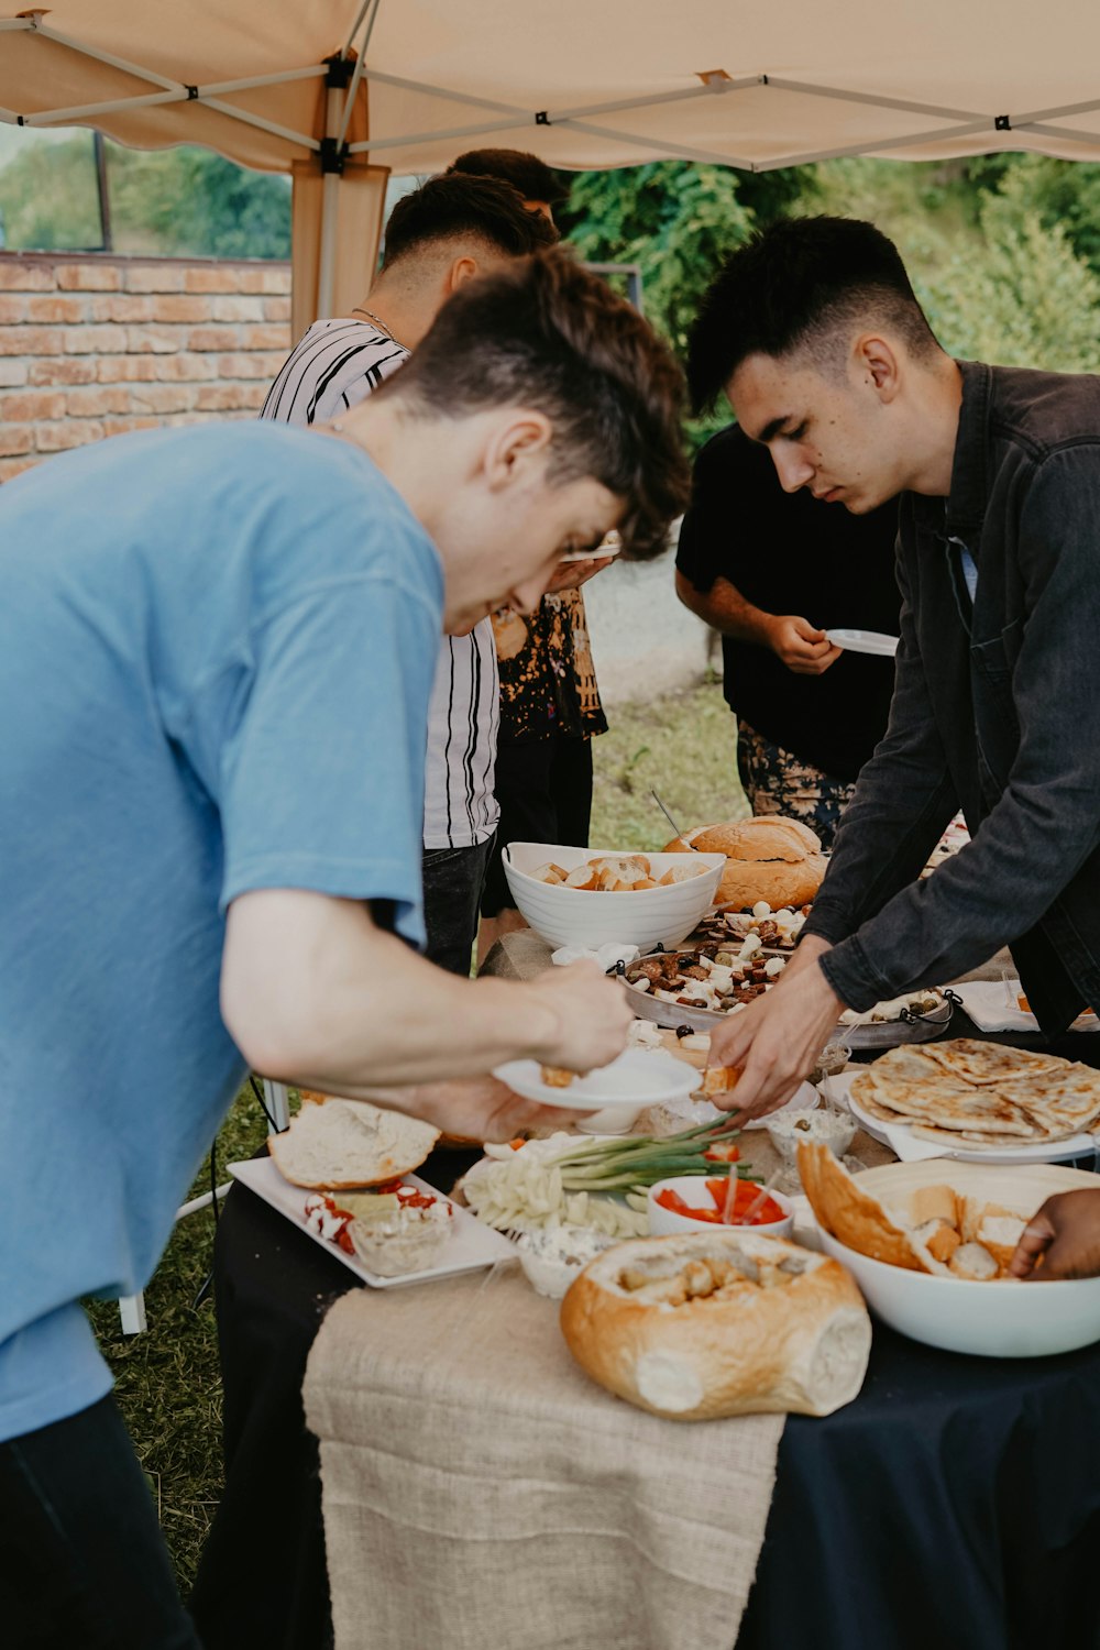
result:
<svg viewBox="0 0 1100 1650"><path fill-rule="evenodd" d="M467 280L376 391L411 416L526 406L552 424L552 480L590 475L625 502L623 551L658 554L691 490L683 375L638 312L554 248Z"/></svg>

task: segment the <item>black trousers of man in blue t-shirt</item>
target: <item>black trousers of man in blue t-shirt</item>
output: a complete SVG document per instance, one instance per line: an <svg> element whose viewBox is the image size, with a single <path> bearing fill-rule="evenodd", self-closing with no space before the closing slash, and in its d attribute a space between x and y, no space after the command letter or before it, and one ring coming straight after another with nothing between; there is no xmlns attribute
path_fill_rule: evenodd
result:
<svg viewBox="0 0 1100 1650"><path fill-rule="evenodd" d="M0 1444L7 1650L200 1650L112 1398Z"/></svg>

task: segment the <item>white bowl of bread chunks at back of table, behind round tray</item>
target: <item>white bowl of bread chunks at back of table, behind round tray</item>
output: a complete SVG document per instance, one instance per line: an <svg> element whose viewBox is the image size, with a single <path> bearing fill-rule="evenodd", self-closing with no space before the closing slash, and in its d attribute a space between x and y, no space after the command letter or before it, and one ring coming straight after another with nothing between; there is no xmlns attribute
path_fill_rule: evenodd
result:
<svg viewBox="0 0 1100 1650"><path fill-rule="evenodd" d="M539 883L531 871L552 861L564 871L604 853L630 853L627 848L562 848L552 842L513 842L505 848L505 876L519 912L536 934L551 945L587 945L595 949L609 940L653 950L655 945L678 945L691 934L714 904L717 879L726 865L722 853L699 853L706 871L670 888L643 888L628 894L597 894L579 888ZM660 876L671 865L683 866L683 853L648 853L646 860Z"/></svg>

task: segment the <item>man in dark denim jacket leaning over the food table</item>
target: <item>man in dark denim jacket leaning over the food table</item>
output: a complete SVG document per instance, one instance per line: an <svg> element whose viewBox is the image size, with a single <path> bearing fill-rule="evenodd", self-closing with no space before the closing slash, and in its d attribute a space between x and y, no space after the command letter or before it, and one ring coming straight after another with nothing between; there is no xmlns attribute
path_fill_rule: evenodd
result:
<svg viewBox="0 0 1100 1650"><path fill-rule="evenodd" d="M729 259L691 378L788 490L904 493L889 728L782 985L712 1038L737 1106L780 1104L839 1008L1004 944L1047 1033L1100 1008L1100 380L953 361L896 248L838 218ZM958 807L973 842L920 881Z"/></svg>

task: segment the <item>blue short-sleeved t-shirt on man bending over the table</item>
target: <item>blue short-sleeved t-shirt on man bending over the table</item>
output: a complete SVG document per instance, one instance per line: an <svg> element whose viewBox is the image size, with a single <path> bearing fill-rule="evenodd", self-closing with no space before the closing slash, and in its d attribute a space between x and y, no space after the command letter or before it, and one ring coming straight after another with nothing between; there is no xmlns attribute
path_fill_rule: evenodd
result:
<svg viewBox="0 0 1100 1650"><path fill-rule="evenodd" d="M0 1439L96 1402L86 1295L143 1289L244 1076L254 888L422 942L442 569L358 447L152 432L0 488Z"/></svg>

